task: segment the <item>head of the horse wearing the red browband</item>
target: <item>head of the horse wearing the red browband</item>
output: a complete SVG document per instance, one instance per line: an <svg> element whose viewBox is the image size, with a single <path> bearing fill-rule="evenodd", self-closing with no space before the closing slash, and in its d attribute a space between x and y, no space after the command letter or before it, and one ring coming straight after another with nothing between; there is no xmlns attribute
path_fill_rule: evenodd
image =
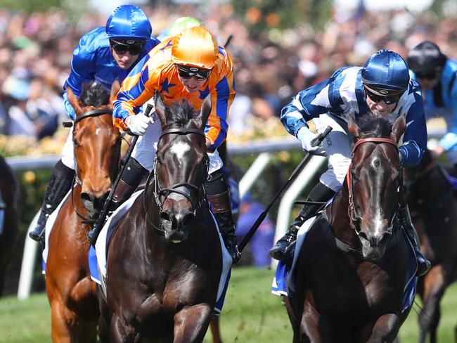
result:
<svg viewBox="0 0 457 343"><path fill-rule="evenodd" d="M349 219L368 260L380 259L397 227L401 162L398 142L406 128L401 115L393 125L382 117L349 118L354 137L347 174Z"/></svg>

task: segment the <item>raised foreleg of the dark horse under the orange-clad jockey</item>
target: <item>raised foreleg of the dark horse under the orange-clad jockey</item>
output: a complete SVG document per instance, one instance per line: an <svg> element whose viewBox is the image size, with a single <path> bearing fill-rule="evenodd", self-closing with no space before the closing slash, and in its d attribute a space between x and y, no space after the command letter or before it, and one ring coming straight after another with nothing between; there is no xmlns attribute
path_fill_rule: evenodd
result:
<svg viewBox="0 0 457 343"><path fill-rule="evenodd" d="M198 304L181 309L174 315L173 343L202 342L210 325L212 306Z"/></svg>

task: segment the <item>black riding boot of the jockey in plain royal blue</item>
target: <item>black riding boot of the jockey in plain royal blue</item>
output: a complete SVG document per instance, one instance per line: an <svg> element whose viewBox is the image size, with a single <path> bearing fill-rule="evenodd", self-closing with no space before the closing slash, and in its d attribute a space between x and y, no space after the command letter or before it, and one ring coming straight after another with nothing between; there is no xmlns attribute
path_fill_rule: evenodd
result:
<svg viewBox="0 0 457 343"><path fill-rule="evenodd" d="M74 177L75 171L73 169L63 164L62 160L57 162L49 178L46 192L44 193L43 205L41 205L37 226L29 233L32 240L44 242L46 221L68 193L68 190L70 190Z"/></svg>

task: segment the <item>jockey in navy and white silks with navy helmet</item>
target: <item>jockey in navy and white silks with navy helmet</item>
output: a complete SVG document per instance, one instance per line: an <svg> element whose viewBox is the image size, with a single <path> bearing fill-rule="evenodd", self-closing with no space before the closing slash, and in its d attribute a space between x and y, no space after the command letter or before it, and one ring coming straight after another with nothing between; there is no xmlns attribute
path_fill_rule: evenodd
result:
<svg viewBox="0 0 457 343"><path fill-rule="evenodd" d="M427 144L422 97L418 84L408 75L408 65L393 51L380 50L374 53L364 67L342 67L330 79L300 91L291 103L285 105L281 122L308 152L314 152L318 147L311 144L317 134L311 133L307 120L313 119L318 132L325 130L328 125L333 127L323 141L328 156L328 170L309 193L308 201L327 202L340 190L352 155L352 138L347 129L348 115L354 115L357 119L371 113L390 119L406 113L407 124L403 145L399 147L400 158L405 167L418 164ZM411 224L408 205L402 194L400 203L403 226L418 259L418 275L423 275L430 268L430 262L420 254L416 230ZM296 240L300 226L314 216L320 207L318 204L302 207L288 232L271 248L271 257L283 258L285 249Z"/></svg>

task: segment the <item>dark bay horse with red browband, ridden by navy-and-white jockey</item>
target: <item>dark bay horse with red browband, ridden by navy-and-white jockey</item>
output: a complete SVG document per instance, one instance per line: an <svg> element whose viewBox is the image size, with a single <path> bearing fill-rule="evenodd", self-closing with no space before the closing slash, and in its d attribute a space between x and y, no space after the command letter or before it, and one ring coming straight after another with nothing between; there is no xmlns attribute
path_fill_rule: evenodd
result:
<svg viewBox="0 0 457 343"><path fill-rule="evenodd" d="M405 117L359 125L349 119L345 183L297 251L296 293L285 298L294 343L394 342L411 309L402 311L408 243L398 219Z"/></svg>

